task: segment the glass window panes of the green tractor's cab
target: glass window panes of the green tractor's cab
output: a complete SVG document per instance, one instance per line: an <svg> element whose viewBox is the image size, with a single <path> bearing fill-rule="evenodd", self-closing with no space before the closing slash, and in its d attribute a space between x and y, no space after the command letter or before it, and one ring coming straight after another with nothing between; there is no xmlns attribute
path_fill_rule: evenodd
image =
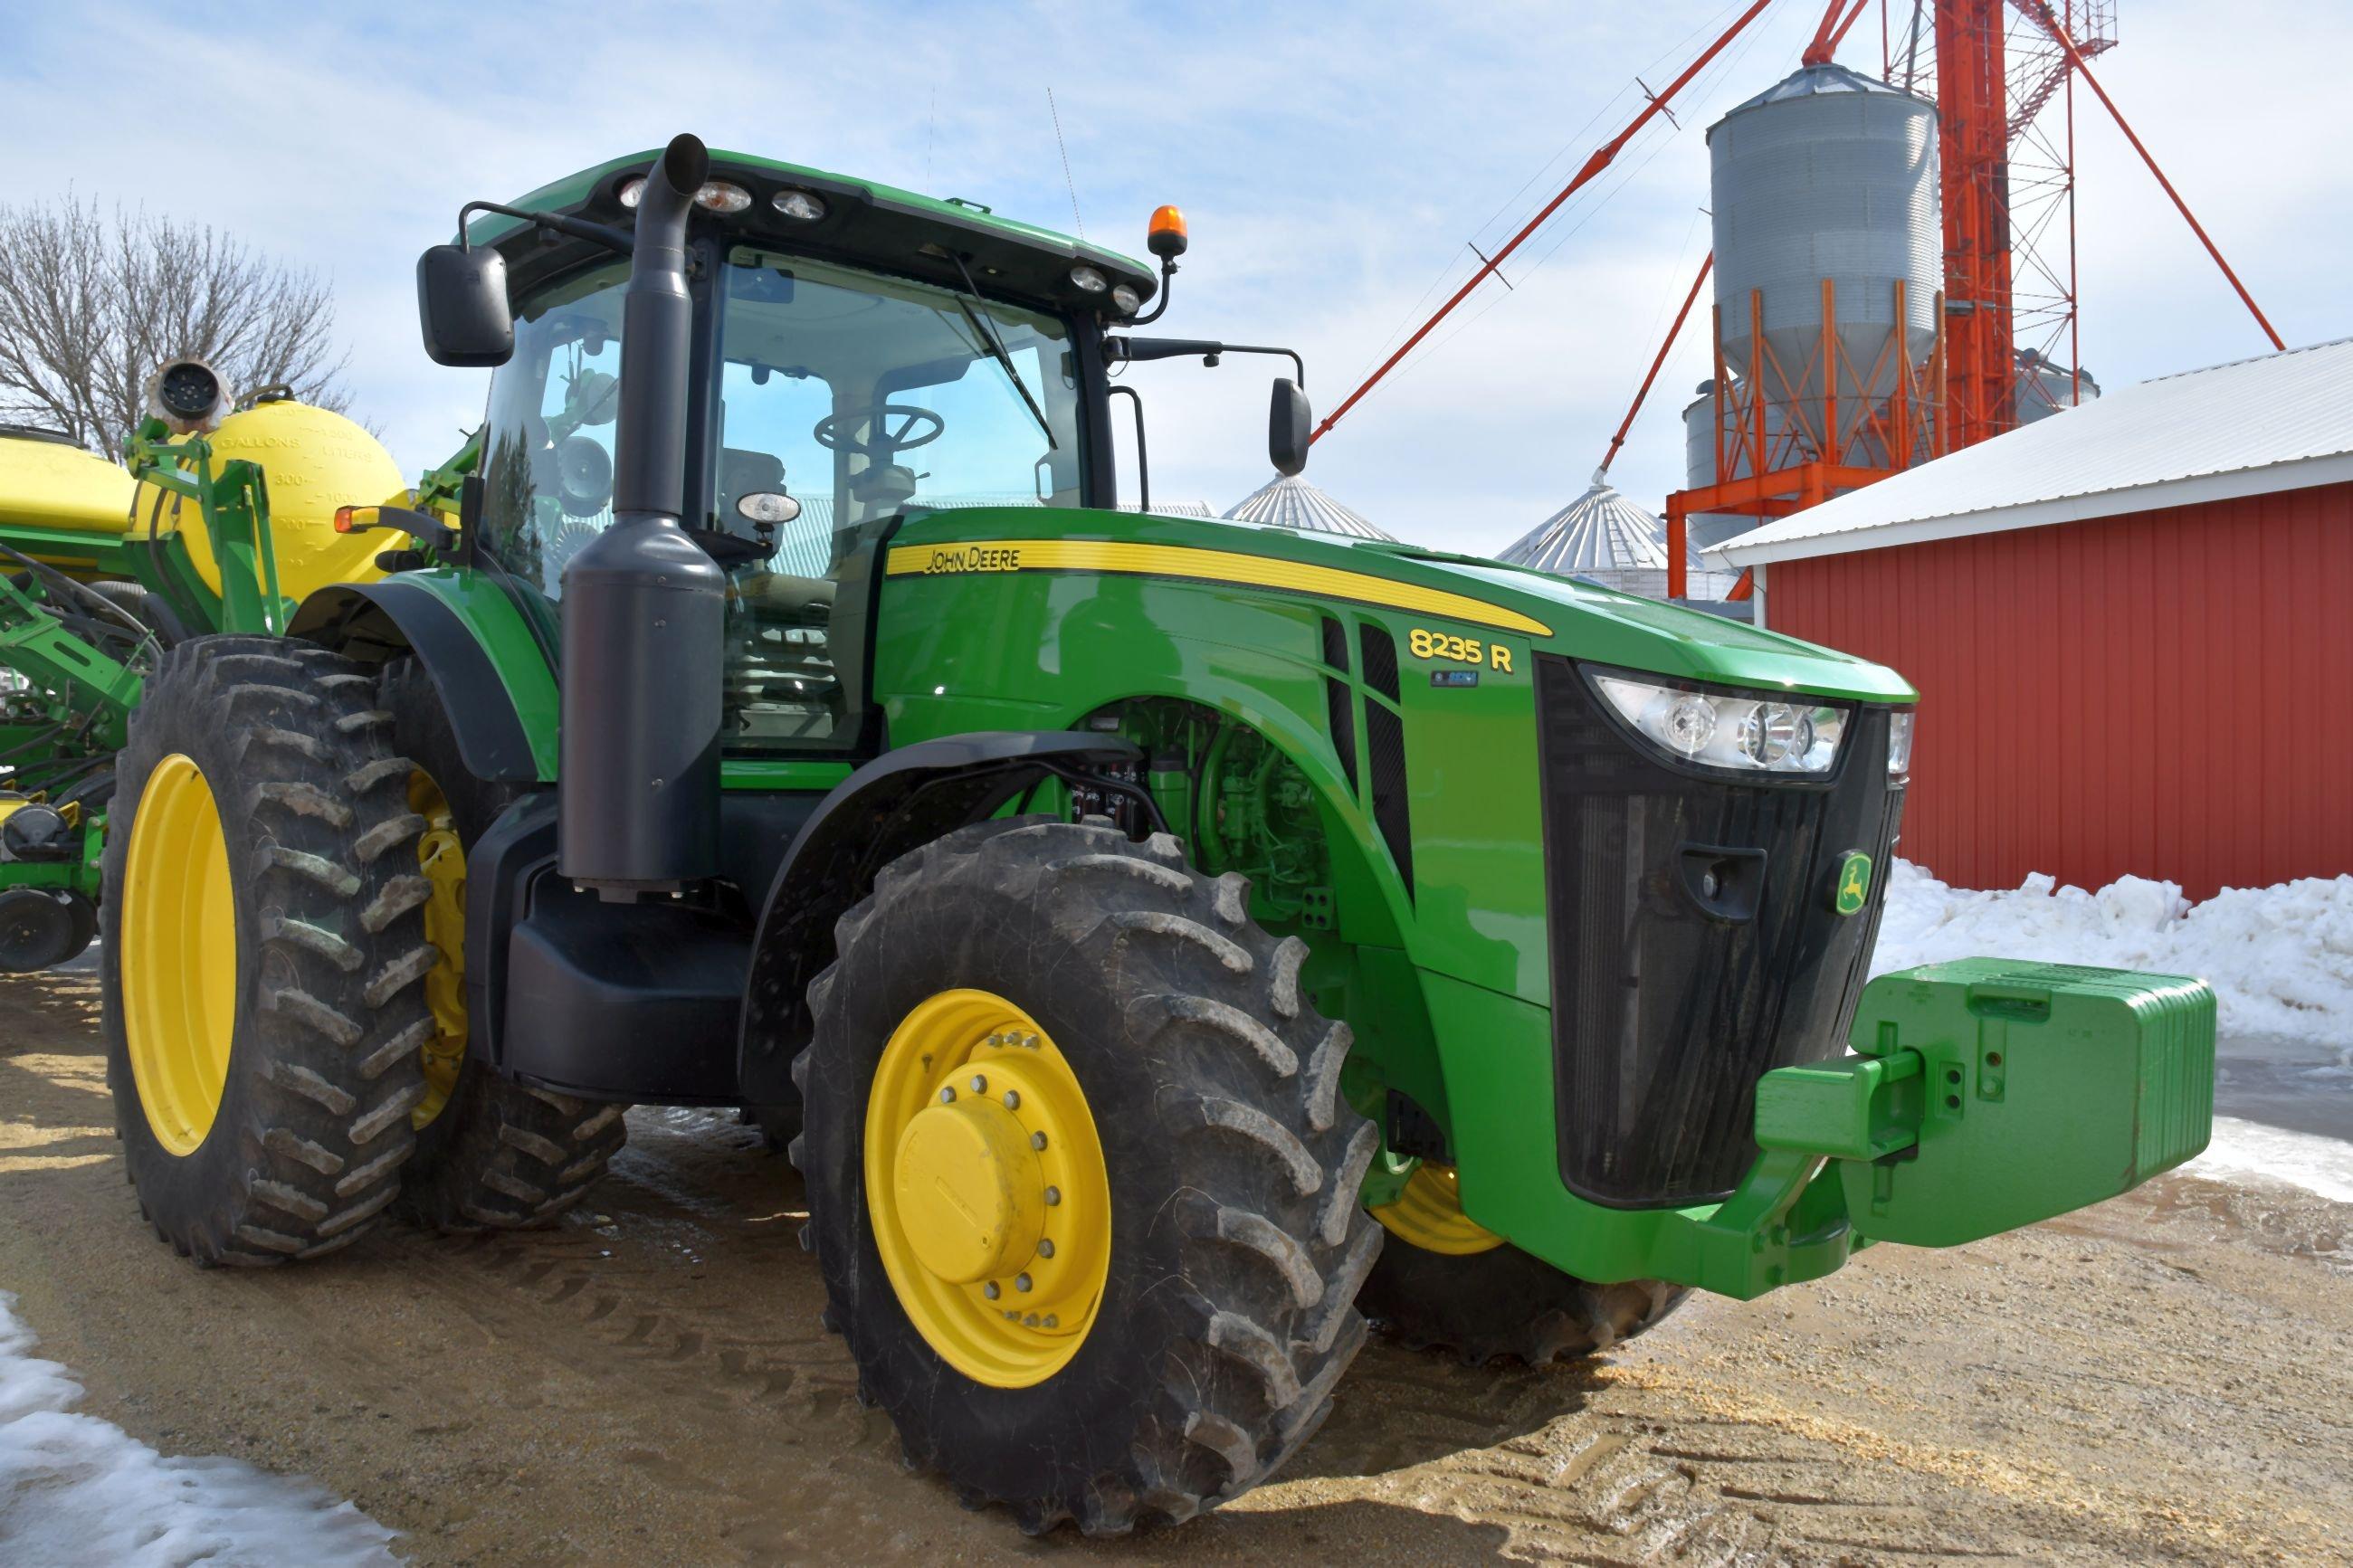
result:
<svg viewBox="0 0 2353 1568"><path fill-rule="evenodd" d="M687 529L727 569L729 755L854 750L866 574L915 508L1082 505L1080 383L1061 317L734 247L694 428ZM482 543L558 614L612 524L621 289L609 261L515 313L492 381Z"/></svg>

